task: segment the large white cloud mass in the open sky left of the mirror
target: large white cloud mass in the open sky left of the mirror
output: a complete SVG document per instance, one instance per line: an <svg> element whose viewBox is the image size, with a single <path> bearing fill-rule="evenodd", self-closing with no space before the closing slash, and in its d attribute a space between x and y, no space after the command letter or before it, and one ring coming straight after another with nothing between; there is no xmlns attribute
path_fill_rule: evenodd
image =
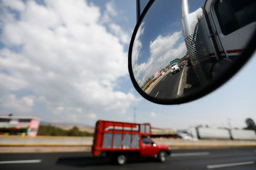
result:
<svg viewBox="0 0 256 170"><path fill-rule="evenodd" d="M131 92L113 90L116 80L127 76L127 52L121 44L127 37L116 24L115 33L107 31L100 8L82 0L15 2L19 5L2 1L3 16L9 17L0 18L0 88L8 94L2 107L28 112L40 101L52 113L97 118L100 113L125 113L140 100ZM106 8L110 17L115 15L111 3ZM36 97L15 97L15 91L26 90Z"/></svg>

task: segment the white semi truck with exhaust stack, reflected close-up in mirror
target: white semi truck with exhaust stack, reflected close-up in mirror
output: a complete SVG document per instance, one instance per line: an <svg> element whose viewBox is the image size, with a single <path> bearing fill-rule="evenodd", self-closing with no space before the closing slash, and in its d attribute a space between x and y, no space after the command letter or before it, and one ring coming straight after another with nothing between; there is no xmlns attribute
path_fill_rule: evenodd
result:
<svg viewBox="0 0 256 170"><path fill-rule="evenodd" d="M181 25L188 56L201 85L241 55L256 27L256 1L206 0L189 13L181 1ZM220 62L221 64L217 64Z"/></svg>

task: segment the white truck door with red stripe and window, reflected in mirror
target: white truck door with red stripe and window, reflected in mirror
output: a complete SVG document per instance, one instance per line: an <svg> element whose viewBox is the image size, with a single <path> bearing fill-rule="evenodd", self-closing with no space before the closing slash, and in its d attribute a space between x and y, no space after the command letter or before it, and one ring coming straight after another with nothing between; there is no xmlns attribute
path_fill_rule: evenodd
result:
<svg viewBox="0 0 256 170"><path fill-rule="evenodd" d="M222 46L221 56L237 58L253 36L256 27L256 1L212 1L210 14L217 35L218 45Z"/></svg>

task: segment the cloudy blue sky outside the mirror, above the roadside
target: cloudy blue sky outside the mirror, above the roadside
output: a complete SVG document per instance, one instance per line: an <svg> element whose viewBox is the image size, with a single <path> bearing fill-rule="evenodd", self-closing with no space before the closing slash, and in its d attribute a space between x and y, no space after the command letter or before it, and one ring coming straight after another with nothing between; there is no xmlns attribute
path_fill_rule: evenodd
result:
<svg viewBox="0 0 256 170"><path fill-rule="evenodd" d="M158 105L139 96L127 70L135 1L40 2L1 2L0 114L93 126L133 121L136 108L137 122L177 129L256 120L255 55L212 94Z"/></svg>

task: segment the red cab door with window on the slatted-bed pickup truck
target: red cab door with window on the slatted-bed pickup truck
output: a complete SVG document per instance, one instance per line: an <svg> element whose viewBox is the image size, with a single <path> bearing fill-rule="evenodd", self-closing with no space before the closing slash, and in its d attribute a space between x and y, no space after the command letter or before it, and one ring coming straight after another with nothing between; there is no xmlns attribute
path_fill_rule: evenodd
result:
<svg viewBox="0 0 256 170"><path fill-rule="evenodd" d="M158 154L158 147L156 143L151 141L150 138L142 136L141 139L141 156L154 156Z"/></svg>

